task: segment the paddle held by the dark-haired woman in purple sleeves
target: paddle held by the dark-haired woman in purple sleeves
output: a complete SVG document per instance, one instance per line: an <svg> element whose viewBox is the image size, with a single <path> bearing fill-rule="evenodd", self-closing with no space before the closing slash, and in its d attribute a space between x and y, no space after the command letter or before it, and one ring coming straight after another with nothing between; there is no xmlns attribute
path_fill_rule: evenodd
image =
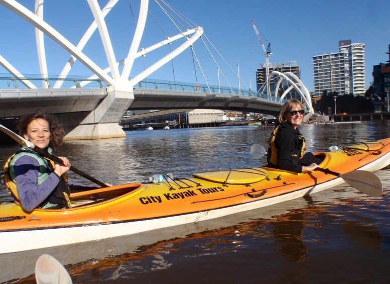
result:
<svg viewBox="0 0 390 284"><path fill-rule="evenodd" d="M44 156L52 161L55 161L56 163L58 163L60 165L64 164L63 161L59 157L57 157L56 155L53 155L45 150L42 150L41 148L35 146L31 141L24 139L23 137L19 136L18 134L16 134L15 132L11 131L10 129L8 129L7 127L5 127L1 124L0 124L0 130L2 130L4 133L6 133L8 136L10 136L12 139L14 139L19 144L29 147L30 149L40 153L42 156ZM82 177L85 177L86 179L96 183L97 185L100 185L101 187L108 187L108 185L105 184L104 182L97 180L96 178L86 174L85 172L75 168L74 166L70 166L70 170L81 175Z"/></svg>

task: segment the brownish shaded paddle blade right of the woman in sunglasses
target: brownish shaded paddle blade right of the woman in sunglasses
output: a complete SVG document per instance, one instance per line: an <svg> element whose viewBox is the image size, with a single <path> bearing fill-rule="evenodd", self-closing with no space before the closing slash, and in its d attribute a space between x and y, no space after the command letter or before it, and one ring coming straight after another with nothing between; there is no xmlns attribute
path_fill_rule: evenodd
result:
<svg viewBox="0 0 390 284"><path fill-rule="evenodd" d="M373 172L353 170L340 174L339 176L359 192L373 197L380 197L382 195L382 181Z"/></svg>

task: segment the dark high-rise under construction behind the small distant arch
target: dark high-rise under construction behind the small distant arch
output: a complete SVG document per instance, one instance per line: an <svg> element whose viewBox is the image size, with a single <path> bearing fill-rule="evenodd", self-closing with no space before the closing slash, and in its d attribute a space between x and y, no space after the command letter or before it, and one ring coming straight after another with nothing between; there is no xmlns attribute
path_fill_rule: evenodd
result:
<svg viewBox="0 0 390 284"><path fill-rule="evenodd" d="M297 65L297 61L278 62L275 64L270 63L270 73L272 71L279 71L282 73L292 72L298 78L301 79L301 67ZM279 77L274 77L271 79L271 81L270 81L271 93L275 93L274 90L275 90L276 84L278 82L278 79L279 79ZM266 64L263 64L262 68L256 69L256 89L257 89L257 91L266 86L266 80L267 80ZM293 98L296 98L295 89L291 90L290 93L291 93Z"/></svg>

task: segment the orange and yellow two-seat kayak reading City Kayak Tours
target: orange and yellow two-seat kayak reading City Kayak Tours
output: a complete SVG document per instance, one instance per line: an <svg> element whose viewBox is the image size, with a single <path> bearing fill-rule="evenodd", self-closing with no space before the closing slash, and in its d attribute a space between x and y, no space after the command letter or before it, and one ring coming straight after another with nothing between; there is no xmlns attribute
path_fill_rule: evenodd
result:
<svg viewBox="0 0 390 284"><path fill-rule="evenodd" d="M221 218L324 191L343 183L343 174L347 176L352 171L360 170L359 182L364 183L367 178L364 171L372 172L390 164L390 138L314 154L322 160L322 169L340 175L326 170L295 173L261 166L194 173L188 178L162 175L162 181L156 183L127 183L75 192L70 196L70 209L24 212L14 202L3 203L0 253Z"/></svg>

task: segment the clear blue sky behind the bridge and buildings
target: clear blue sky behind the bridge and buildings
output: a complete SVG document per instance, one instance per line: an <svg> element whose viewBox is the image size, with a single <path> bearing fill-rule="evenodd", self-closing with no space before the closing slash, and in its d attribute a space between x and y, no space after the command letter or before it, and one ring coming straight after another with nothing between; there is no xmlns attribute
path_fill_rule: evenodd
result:
<svg viewBox="0 0 390 284"><path fill-rule="evenodd" d="M18 1L33 10L30 0ZM372 66L388 60L390 44L389 0L301 0L301 1L249 1L249 0L166 0L173 8L204 29L204 34L218 52L237 73L239 64L241 81L255 88L255 69L265 62L264 51L251 25L253 20L267 46L271 43L273 55L270 62L297 61L301 66L301 79L312 89L312 56L338 51L338 41L351 39L352 43L365 44L366 85L372 81ZM101 7L106 1L99 1ZM138 14L139 1L131 0L133 12ZM150 0L150 11L169 36L179 33L169 24L163 12ZM76 9L74 9L76 8ZM117 60L128 51L134 32L133 18L127 0L119 0L106 21ZM24 74L38 74L34 29L19 16L0 6L2 41L0 54ZM45 1L44 19L77 45L92 21L88 4L83 0ZM124 28L126 27L126 29ZM165 39L165 35L149 16L142 40L143 47ZM59 74L69 55L50 39L45 40L49 74ZM164 47L165 51L169 47ZM210 45L209 45L209 48ZM198 40L195 52L209 84L218 84L217 67ZM163 49L164 50L164 49ZM107 61L97 33L83 50L100 67ZM214 56L216 56L214 54ZM145 58L148 66L157 58L150 54ZM195 82L195 72L190 52L174 59L176 81ZM132 76L142 71L144 62L138 60ZM204 83L200 69L196 67L200 83ZM238 80L226 65L221 69L229 83L237 87ZM7 71L0 67L0 73ZM88 70L75 65L72 75L90 75ZM172 64L168 63L150 78L173 80ZM226 85L220 77L221 85ZM242 88L242 84L241 84Z"/></svg>

